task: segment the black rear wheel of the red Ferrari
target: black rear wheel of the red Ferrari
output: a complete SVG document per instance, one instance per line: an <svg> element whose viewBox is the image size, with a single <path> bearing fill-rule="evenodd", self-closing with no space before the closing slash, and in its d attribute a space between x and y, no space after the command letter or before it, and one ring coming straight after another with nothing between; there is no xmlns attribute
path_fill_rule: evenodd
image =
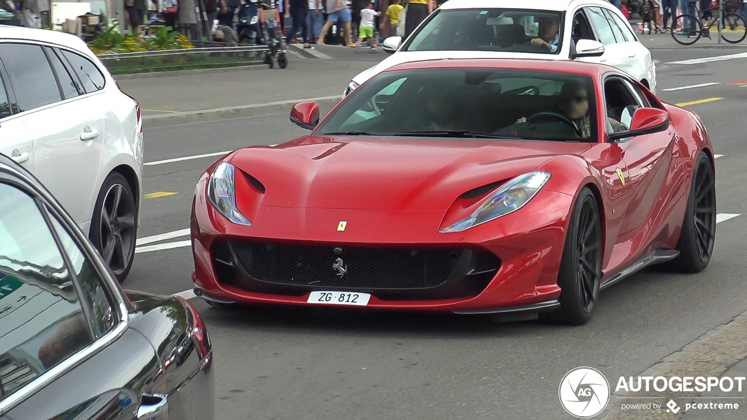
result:
<svg viewBox="0 0 747 420"><path fill-rule="evenodd" d="M677 242L679 257L662 268L673 272L698 273L710 263L716 239L716 176L704 152L695 160L685 219Z"/></svg>

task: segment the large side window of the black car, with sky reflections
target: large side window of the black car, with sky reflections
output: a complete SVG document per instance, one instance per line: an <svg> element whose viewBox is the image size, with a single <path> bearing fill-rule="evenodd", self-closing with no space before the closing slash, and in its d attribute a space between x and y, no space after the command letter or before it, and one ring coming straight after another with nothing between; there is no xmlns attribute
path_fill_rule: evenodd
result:
<svg viewBox="0 0 747 420"><path fill-rule="evenodd" d="M0 401L93 342L33 198L0 184Z"/></svg>

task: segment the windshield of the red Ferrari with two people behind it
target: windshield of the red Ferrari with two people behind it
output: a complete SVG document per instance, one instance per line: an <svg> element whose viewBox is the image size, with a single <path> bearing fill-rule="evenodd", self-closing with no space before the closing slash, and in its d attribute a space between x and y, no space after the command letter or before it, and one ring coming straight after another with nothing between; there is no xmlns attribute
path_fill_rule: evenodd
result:
<svg viewBox="0 0 747 420"><path fill-rule="evenodd" d="M382 72L315 135L595 141L592 78L525 69Z"/></svg>

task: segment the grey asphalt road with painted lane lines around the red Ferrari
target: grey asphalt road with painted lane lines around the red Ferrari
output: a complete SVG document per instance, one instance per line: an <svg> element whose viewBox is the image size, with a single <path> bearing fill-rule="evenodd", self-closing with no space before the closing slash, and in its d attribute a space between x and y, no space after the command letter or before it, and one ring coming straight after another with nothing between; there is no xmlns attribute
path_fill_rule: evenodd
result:
<svg viewBox="0 0 747 420"><path fill-rule="evenodd" d="M565 372L594 366L607 377L637 375L746 311L747 87L730 82L747 78L743 72L747 59L667 64L746 49L652 51L659 61L660 97L675 104L691 103L686 106L701 116L716 153L722 154L716 160L719 213L746 215L719 223L713 260L706 271L633 275L601 292L595 318L583 327L537 322L497 325L466 316L326 308L226 312L196 300L216 354L217 419L568 419L557 401ZM357 71L371 65L370 58L365 60L300 59L293 73L273 71L273 80L285 82L266 89L273 92L270 100L335 95ZM261 73L244 72L244 76L259 80L266 76ZM232 74L230 80L241 77ZM147 86L159 80L163 81L128 83L135 89L143 86L138 82ZM709 83L718 84L667 91ZM188 90L181 87L179 95ZM136 97L146 94L145 88L135 93ZM323 110L332 103L326 101ZM173 106L179 106L179 101ZM303 134L288 122L286 113L146 127L146 162L275 144ZM146 166L143 192L176 193L145 199L141 237L188 227L194 184L215 159ZM187 239L178 236L146 246L185 245ZM193 263L186 244L140 248L125 287L162 294L190 289Z"/></svg>

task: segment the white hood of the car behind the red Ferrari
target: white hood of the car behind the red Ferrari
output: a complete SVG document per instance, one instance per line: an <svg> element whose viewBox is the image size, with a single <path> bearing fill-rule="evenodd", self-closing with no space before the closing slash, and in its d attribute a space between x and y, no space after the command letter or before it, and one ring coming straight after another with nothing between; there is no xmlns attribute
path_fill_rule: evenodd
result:
<svg viewBox="0 0 747 420"><path fill-rule="evenodd" d="M384 70L402 63L412 63L425 60L442 59L468 59L468 58L526 58L538 60L563 60L567 59L561 54L532 54L527 52L504 52L504 51L397 51L369 69L356 75L353 81L357 84L372 78Z"/></svg>

